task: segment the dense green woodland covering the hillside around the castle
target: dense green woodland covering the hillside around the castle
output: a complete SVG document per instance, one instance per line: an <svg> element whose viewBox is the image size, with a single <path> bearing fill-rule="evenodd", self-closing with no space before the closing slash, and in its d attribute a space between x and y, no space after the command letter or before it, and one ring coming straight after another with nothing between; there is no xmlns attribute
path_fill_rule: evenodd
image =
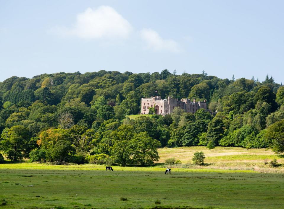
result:
<svg viewBox="0 0 284 209"><path fill-rule="evenodd" d="M141 97L207 100L199 109L141 116ZM140 164L158 147L272 147L284 151L284 87L267 76L220 79L202 74L55 73L0 82L0 150L11 161ZM3 156L0 154L0 161Z"/></svg>

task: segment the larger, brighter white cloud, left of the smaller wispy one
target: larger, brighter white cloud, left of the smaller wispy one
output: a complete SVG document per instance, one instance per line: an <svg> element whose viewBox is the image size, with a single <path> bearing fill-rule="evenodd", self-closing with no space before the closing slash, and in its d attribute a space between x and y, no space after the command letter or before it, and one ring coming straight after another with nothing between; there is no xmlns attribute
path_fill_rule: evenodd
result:
<svg viewBox="0 0 284 209"><path fill-rule="evenodd" d="M88 8L79 13L72 28L57 27L60 35L75 35L84 39L127 38L132 30L130 23L110 6Z"/></svg>

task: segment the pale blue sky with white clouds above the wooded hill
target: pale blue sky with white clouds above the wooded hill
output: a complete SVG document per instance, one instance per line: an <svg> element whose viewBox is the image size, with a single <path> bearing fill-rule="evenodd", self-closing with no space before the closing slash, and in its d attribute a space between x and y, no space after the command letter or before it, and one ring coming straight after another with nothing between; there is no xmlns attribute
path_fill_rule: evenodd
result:
<svg viewBox="0 0 284 209"><path fill-rule="evenodd" d="M0 81L177 70L283 82L284 1L0 0Z"/></svg>

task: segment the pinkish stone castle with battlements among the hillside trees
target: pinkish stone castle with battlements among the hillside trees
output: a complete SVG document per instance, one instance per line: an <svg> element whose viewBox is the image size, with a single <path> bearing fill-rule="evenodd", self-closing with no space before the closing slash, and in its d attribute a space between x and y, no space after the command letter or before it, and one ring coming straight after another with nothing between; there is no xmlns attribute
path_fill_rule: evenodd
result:
<svg viewBox="0 0 284 209"><path fill-rule="evenodd" d="M172 113L175 107L180 107L185 112L195 113L198 109L204 108L207 110L206 100L204 102L193 102L190 99L172 99L168 96L168 99L161 99L161 96L142 98L141 99L141 114L149 114L149 108L154 107L155 114L166 115Z"/></svg>

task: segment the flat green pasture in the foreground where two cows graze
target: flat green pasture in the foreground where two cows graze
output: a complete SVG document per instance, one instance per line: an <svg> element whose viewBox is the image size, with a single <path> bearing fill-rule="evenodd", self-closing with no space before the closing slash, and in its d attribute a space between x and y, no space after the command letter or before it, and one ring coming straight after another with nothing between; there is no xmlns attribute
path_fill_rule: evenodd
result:
<svg viewBox="0 0 284 209"><path fill-rule="evenodd" d="M113 168L1 164L0 207L282 208L284 203L283 174L172 169L165 175L159 167Z"/></svg>

